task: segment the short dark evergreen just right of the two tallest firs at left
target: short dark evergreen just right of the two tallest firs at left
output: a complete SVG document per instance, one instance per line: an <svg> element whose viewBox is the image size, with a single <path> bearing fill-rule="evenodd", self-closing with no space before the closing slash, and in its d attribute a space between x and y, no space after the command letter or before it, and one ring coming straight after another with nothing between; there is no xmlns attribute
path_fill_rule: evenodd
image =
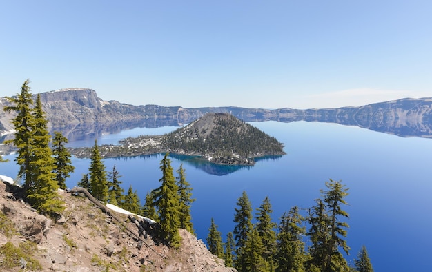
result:
<svg viewBox="0 0 432 272"><path fill-rule="evenodd" d="M52 154L55 159L55 169L57 184L61 189L66 189L66 178L70 177L70 173L75 170L70 160L70 152L65 144L68 143L68 138L64 137L61 132L55 131L52 139Z"/></svg>

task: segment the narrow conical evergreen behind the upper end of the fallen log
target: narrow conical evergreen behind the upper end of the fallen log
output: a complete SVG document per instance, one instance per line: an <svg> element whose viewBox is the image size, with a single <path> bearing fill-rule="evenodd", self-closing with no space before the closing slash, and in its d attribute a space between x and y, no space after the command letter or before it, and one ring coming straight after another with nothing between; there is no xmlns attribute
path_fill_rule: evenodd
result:
<svg viewBox="0 0 432 272"><path fill-rule="evenodd" d="M105 203L108 197L108 181L106 179L104 162L102 162L96 140L90 159L90 193L97 200Z"/></svg>

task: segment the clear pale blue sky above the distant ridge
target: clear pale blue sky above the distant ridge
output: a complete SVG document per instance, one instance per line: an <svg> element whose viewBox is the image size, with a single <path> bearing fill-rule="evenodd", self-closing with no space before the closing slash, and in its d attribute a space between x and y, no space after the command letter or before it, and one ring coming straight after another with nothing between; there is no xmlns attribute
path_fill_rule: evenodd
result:
<svg viewBox="0 0 432 272"><path fill-rule="evenodd" d="M432 97L432 1L3 0L0 96L92 88L161 106Z"/></svg>

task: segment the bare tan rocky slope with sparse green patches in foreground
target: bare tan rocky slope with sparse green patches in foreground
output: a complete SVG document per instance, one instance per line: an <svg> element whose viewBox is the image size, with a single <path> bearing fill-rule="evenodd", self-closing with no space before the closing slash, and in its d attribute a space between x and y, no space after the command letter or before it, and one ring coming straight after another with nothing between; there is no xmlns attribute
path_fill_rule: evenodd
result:
<svg viewBox="0 0 432 272"><path fill-rule="evenodd" d="M126 215L107 215L70 193L61 193L66 210L53 222L15 200L11 188L0 182L0 271L235 271L184 229L177 250L139 240Z"/></svg>

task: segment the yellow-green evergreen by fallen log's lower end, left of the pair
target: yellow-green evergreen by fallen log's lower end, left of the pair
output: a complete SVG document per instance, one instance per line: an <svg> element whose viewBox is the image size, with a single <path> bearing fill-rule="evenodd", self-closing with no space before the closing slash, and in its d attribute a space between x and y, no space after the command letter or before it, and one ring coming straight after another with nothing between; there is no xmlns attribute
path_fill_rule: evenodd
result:
<svg viewBox="0 0 432 272"><path fill-rule="evenodd" d="M177 194L178 187L175 183L173 167L168 155L169 153L166 153L160 163L159 169L162 172L162 177L159 182L161 182L161 186L153 191L154 205L159 213L158 221L161 224L161 237L170 246L178 248L181 242L179 235L179 195Z"/></svg>

